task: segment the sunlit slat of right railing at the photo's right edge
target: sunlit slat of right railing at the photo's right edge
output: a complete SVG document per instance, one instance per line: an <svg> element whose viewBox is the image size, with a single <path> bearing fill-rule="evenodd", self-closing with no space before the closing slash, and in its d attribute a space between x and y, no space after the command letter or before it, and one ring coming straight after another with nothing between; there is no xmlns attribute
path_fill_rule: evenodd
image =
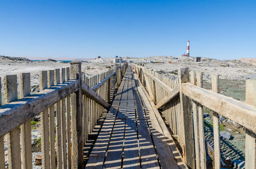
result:
<svg viewBox="0 0 256 169"><path fill-rule="evenodd" d="M256 106L256 80L246 80L246 103ZM249 129L245 134L245 168L256 167L256 135Z"/></svg>

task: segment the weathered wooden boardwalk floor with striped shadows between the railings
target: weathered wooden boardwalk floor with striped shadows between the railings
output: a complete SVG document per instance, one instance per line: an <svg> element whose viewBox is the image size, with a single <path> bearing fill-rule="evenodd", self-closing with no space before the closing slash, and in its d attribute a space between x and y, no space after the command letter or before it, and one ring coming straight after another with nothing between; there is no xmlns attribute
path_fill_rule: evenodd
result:
<svg viewBox="0 0 256 169"><path fill-rule="evenodd" d="M129 66L85 168L186 168L148 98Z"/></svg>

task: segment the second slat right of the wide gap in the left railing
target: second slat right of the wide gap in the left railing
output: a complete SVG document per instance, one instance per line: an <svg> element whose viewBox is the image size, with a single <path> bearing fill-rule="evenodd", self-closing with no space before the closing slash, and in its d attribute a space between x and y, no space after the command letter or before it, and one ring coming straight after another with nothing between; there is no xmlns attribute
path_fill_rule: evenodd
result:
<svg viewBox="0 0 256 169"><path fill-rule="evenodd" d="M54 85L54 70L48 70L48 88ZM55 124L54 124L54 105L49 110L49 136L50 136L50 165L52 169L56 168L56 151L55 151Z"/></svg>

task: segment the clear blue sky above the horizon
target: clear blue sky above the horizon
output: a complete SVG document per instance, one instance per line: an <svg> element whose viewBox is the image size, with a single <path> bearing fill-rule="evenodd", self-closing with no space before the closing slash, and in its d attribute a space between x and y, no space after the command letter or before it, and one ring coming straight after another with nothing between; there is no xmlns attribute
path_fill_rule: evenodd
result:
<svg viewBox="0 0 256 169"><path fill-rule="evenodd" d="M256 57L256 1L0 0L0 55Z"/></svg>

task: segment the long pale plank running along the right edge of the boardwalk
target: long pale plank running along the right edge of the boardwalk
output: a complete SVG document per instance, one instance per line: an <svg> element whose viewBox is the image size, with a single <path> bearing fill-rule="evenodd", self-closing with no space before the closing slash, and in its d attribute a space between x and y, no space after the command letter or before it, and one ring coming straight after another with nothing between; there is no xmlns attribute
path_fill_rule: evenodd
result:
<svg viewBox="0 0 256 169"><path fill-rule="evenodd" d="M135 78L138 79L135 75ZM148 110L148 124L150 125L150 133L152 135L156 151L159 156L160 164L163 168L187 168L182 161L182 156L172 139L164 121L158 110L154 108L154 102L144 91L143 87L136 81L138 92L143 99ZM159 126L160 125L160 126ZM175 156L174 156L175 154Z"/></svg>

